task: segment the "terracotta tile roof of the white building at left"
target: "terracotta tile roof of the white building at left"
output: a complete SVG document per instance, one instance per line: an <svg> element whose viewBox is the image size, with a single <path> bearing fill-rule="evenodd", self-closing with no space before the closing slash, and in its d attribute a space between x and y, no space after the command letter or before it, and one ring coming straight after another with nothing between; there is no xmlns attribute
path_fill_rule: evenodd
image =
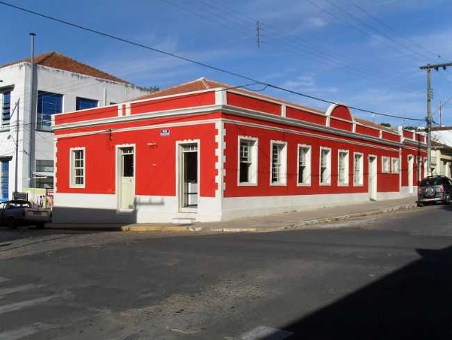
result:
<svg viewBox="0 0 452 340"><path fill-rule="evenodd" d="M58 70L80 73L81 75L90 75L91 77L111 80L113 82L131 84L123 79L110 75L101 70L97 70L97 68L93 68L90 65L86 65L85 63L81 63L80 61L76 61L75 59L72 59L55 51L39 54L38 56L35 56L34 61L36 65L48 66L49 68L57 68ZM6 65L1 65L0 68L24 62L29 63L30 58L14 61Z"/></svg>

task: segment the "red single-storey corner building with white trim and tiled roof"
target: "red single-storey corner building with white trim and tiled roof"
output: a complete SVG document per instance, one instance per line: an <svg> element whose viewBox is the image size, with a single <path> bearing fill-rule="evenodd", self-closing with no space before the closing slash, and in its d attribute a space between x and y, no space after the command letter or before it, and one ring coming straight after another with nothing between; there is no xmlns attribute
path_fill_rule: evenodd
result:
<svg viewBox="0 0 452 340"><path fill-rule="evenodd" d="M426 161L423 134L204 78L52 124L55 222L207 222L396 199L416 194Z"/></svg>

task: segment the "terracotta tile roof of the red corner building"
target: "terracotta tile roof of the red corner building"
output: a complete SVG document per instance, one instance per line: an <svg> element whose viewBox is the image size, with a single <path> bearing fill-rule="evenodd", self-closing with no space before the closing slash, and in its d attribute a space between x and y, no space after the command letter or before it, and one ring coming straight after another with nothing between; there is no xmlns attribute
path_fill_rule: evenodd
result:
<svg viewBox="0 0 452 340"><path fill-rule="evenodd" d="M135 100L143 100L143 99L148 99L148 98L157 98L157 97L162 97L164 95L176 95L179 93L186 93L186 92L192 92L192 91L202 91L202 90L209 90L211 88L234 88L234 91L238 91L241 93L245 93L248 95L254 95L257 98L261 98L263 100L275 100L277 102L282 102L286 105L291 105L293 107L298 107L299 109L307 109L309 111L315 111L318 112L319 114L325 114L324 111L318 110L318 109L313 109L312 107L305 107L303 105L297 104L295 102L289 102L287 100L282 100L280 98L275 98L275 97L271 97L270 95L262 95L261 93L257 93L255 91L251 91L251 90L246 90L244 88L236 88L236 86L234 85L229 85L229 84L224 84L224 83L220 83L220 82L215 82L213 80L209 80L207 78L200 78L200 79L196 79L193 80L191 82L187 82L184 84L179 84L176 86L172 86L170 88L166 88L164 90L161 91L157 91L154 93L151 93L150 95L143 95L139 98L136 98Z"/></svg>

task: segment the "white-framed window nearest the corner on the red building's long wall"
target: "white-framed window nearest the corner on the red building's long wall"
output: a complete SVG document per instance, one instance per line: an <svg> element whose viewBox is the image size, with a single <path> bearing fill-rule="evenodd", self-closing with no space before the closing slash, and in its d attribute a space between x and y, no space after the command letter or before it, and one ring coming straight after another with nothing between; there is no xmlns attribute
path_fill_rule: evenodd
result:
<svg viewBox="0 0 452 340"><path fill-rule="evenodd" d="M239 136L239 185L257 184L257 139Z"/></svg>

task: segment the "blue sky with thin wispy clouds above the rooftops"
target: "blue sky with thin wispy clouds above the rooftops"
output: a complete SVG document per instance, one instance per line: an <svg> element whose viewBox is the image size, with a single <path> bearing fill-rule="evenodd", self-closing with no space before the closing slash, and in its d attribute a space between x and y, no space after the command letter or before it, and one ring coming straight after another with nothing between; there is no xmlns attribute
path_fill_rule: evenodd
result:
<svg viewBox="0 0 452 340"><path fill-rule="evenodd" d="M371 111L424 118L426 63L452 62L450 0L6 0L261 82ZM139 86L167 88L200 77L234 86L240 77L0 5L0 64L58 51ZM261 28L257 46L256 27ZM452 67L433 71L434 120L452 97ZM300 95L247 88L302 105ZM423 125L361 111L392 125ZM452 99L443 123L452 125Z"/></svg>

